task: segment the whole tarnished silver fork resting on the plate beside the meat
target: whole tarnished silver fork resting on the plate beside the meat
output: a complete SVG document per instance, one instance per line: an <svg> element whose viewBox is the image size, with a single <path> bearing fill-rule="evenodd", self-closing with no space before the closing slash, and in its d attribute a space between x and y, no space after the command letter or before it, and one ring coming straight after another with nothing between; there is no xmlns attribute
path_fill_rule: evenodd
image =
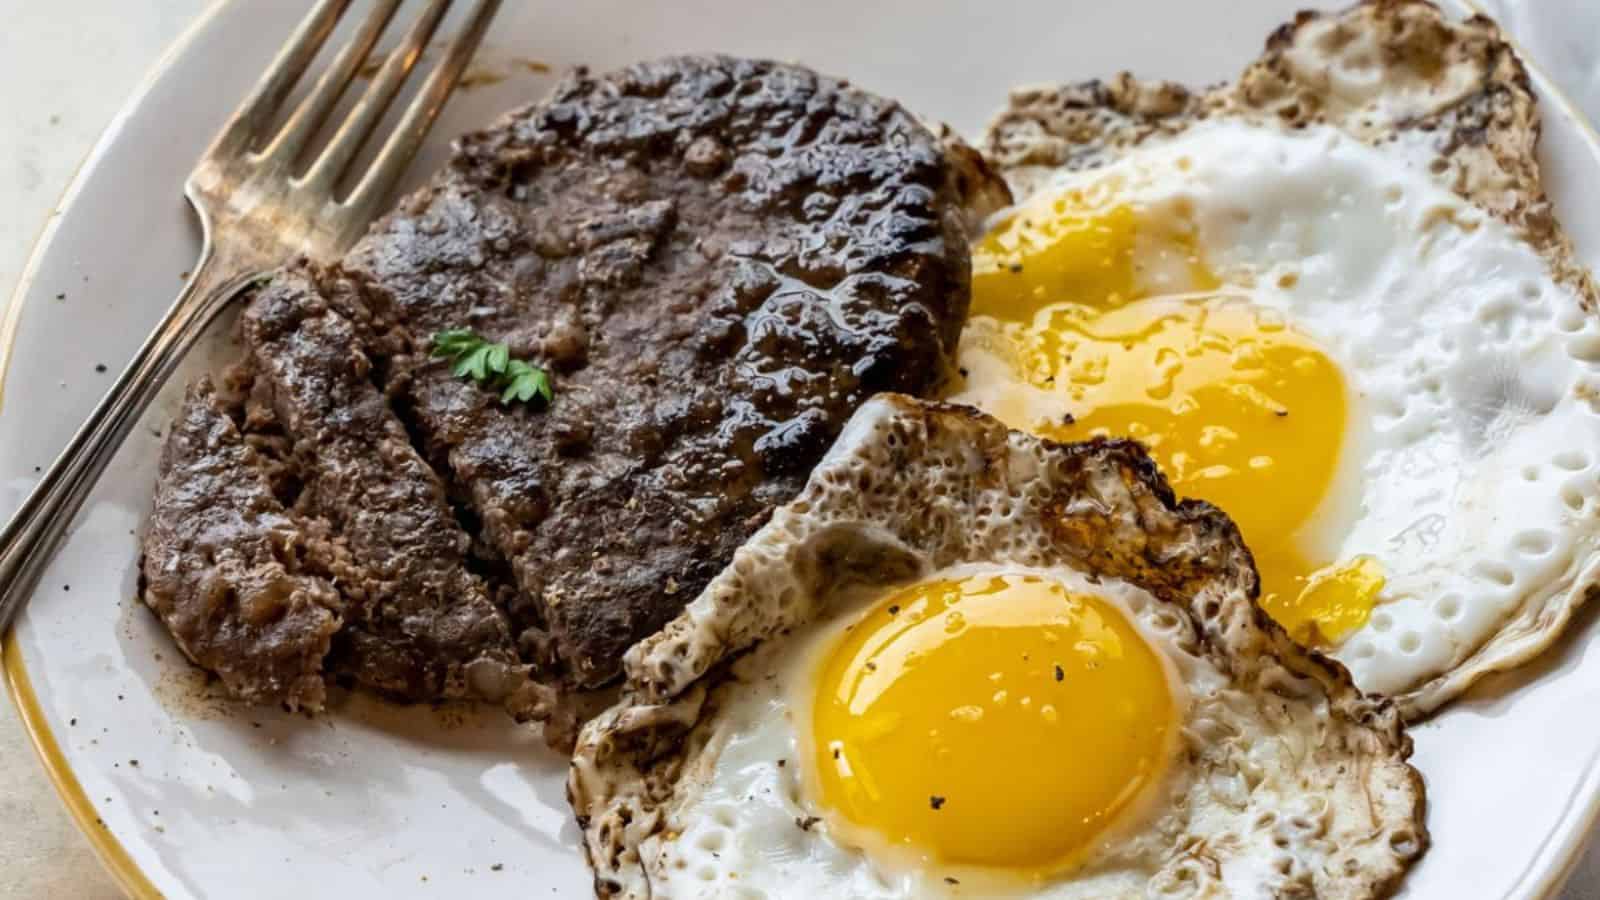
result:
<svg viewBox="0 0 1600 900"><path fill-rule="evenodd" d="M371 167L363 173L349 171L450 11L451 0L430 0L326 147L304 173L298 171L296 163L307 143L362 69L400 3L373 0L350 43L341 48L283 127L272 133L274 117L350 6L350 0L318 0L189 173L184 195L200 218L200 261L110 392L0 532L0 634L34 593L74 514L134 421L218 312L291 256L338 256L378 216L467 67L501 0L472 3L461 32L405 109ZM360 178L344 199L338 199L336 187L347 173Z"/></svg>

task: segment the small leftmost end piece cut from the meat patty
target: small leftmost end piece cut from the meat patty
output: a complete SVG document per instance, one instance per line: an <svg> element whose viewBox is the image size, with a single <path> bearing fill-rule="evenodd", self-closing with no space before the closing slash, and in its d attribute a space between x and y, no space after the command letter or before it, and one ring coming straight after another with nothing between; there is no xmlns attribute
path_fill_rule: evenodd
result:
<svg viewBox="0 0 1600 900"><path fill-rule="evenodd" d="M317 709L342 601L302 564L314 540L272 496L210 378L189 388L162 452L144 540L144 601L235 697Z"/></svg>

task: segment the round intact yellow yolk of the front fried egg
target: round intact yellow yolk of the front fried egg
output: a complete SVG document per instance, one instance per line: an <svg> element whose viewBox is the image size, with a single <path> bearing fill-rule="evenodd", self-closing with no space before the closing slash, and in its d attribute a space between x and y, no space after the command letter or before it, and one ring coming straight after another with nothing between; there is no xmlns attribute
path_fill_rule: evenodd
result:
<svg viewBox="0 0 1600 900"><path fill-rule="evenodd" d="M1160 775L1174 709L1106 599L1037 575L928 581L827 649L811 775L850 823L933 860L1048 873Z"/></svg>

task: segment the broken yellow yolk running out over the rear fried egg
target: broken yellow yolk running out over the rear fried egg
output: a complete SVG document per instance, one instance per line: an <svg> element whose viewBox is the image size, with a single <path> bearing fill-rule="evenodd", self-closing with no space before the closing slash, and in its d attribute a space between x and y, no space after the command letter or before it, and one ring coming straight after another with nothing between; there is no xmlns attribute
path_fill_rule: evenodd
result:
<svg viewBox="0 0 1600 900"><path fill-rule="evenodd" d="M1144 442L1179 495L1238 524L1267 612L1301 642L1338 642L1382 588L1370 557L1307 551L1344 444L1344 378L1280 314L1229 296L1182 205L1152 215L1118 203L1117 187L1034 200L974 250L963 359L1008 360L1008 378L1034 389L981 402L1058 440Z"/></svg>

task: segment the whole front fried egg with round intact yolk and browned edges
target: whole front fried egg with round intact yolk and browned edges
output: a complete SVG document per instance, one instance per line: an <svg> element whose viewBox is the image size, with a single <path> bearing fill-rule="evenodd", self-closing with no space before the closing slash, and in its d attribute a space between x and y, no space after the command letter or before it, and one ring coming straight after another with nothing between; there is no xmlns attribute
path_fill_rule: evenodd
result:
<svg viewBox="0 0 1600 900"><path fill-rule="evenodd" d="M1382 895L1410 738L1254 594L1136 444L880 396L584 727L597 890Z"/></svg>

